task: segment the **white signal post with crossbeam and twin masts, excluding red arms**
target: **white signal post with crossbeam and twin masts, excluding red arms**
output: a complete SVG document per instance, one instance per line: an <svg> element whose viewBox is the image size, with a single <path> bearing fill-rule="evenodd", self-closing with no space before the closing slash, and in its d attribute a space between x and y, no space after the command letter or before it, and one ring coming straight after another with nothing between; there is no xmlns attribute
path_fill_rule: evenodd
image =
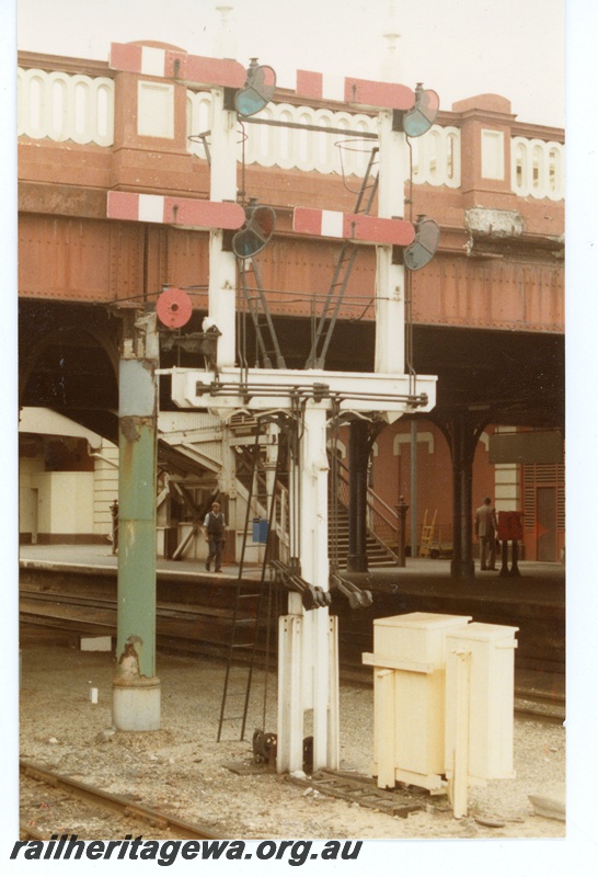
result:
<svg viewBox="0 0 598 877"><path fill-rule="evenodd" d="M400 99L403 100L402 93ZM384 220L403 217L407 176L405 137L392 129L392 110L386 109L379 115L379 215ZM237 115L225 110L223 91L212 89L211 201L237 200ZM380 225L388 228L387 223ZM413 400L407 399L410 380L404 374L404 271L402 265L392 264L392 243L387 241L384 235L372 241L377 246L376 373L235 367L237 263L232 252L222 250L222 231L218 229L210 232L209 250L209 318L221 332L218 374L177 368L172 372L172 398L177 405L221 408L227 413L235 408L290 411L292 388L304 388L300 463L296 464L300 471L295 472L296 480L291 479L298 483L300 494L292 498L299 501L299 538L297 534L295 538L301 578L323 591L330 589L326 425L332 399L336 397L344 411L383 412L389 422L413 410ZM332 269L331 265L331 273ZM216 380L221 390L214 396L209 387ZM314 385L326 385L325 398L313 398ZM279 392L273 387L279 387ZM436 400L436 378L418 377L417 389L422 394L417 410L429 411ZM288 615L280 619L278 649L277 770L292 773L302 768L303 737L310 713L313 770L336 770L340 760L336 618L330 615L327 606L306 610L300 595L289 593Z"/></svg>

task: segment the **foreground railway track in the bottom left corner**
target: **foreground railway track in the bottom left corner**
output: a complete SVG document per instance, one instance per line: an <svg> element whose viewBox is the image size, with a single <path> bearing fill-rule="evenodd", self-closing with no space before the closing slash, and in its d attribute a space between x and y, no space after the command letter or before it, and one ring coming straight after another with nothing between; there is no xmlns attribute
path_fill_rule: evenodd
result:
<svg viewBox="0 0 598 877"><path fill-rule="evenodd" d="M71 779L27 761L20 761L21 840L49 840L56 834L94 840L151 829L156 840L220 840L203 825L147 807L133 798Z"/></svg>

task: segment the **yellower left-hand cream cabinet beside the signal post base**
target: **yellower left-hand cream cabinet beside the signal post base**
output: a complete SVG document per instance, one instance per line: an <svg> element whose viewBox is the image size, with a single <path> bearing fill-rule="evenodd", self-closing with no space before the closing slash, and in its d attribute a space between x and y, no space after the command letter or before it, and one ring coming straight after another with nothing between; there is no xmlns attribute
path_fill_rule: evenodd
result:
<svg viewBox="0 0 598 877"><path fill-rule="evenodd" d="M471 616L413 612L373 622L373 765L379 788L396 782L444 790L445 664L450 633Z"/></svg>

